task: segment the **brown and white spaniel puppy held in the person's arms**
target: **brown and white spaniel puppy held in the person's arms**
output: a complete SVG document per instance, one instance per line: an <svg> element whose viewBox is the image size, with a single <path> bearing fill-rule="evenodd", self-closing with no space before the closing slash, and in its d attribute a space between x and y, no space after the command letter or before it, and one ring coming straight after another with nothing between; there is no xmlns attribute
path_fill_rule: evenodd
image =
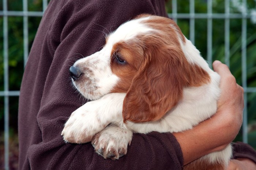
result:
<svg viewBox="0 0 256 170"><path fill-rule="evenodd" d="M125 155L133 132L181 132L217 111L220 76L168 18L142 14L125 22L69 71L91 101L71 114L61 135L69 143L92 141L104 158ZM231 154L229 144L184 169L225 169Z"/></svg>

